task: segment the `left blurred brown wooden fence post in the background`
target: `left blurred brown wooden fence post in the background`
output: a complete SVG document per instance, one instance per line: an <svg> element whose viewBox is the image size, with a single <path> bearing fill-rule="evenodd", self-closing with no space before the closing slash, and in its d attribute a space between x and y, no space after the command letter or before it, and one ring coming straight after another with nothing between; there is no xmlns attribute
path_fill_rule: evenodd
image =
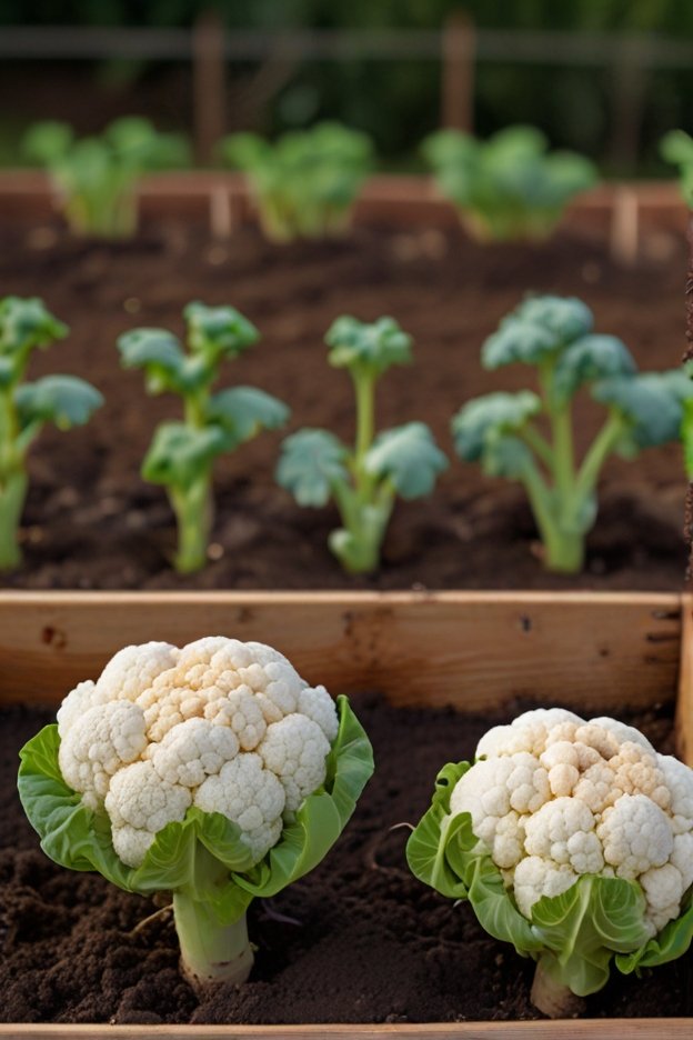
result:
<svg viewBox="0 0 693 1040"><path fill-rule="evenodd" d="M198 162L208 166L225 130L223 23L204 11L192 30L194 144Z"/></svg>

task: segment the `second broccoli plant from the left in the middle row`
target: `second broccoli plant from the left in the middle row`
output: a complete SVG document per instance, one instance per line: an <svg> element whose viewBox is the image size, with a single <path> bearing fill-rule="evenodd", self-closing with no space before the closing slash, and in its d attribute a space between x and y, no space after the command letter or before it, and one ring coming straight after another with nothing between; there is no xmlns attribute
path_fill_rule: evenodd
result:
<svg viewBox="0 0 693 1040"><path fill-rule="evenodd" d="M162 422L142 463L142 476L168 489L178 521L175 569L204 567L212 528L212 474L219 456L261 430L284 424L289 409L254 387L212 392L223 362L255 343L260 333L232 307L189 303L188 351L165 329L134 329L118 340L123 368L144 370L150 393L178 393L182 422Z"/></svg>

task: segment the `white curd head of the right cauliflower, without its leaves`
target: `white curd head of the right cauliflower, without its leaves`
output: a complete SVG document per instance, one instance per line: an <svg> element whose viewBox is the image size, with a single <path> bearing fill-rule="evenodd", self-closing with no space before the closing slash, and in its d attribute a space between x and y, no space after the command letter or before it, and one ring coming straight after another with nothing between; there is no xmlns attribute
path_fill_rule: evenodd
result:
<svg viewBox="0 0 693 1040"><path fill-rule="evenodd" d="M470 813L528 919L581 874L624 878L640 883L655 936L693 883L693 770L614 719L554 708L495 727L450 812Z"/></svg>

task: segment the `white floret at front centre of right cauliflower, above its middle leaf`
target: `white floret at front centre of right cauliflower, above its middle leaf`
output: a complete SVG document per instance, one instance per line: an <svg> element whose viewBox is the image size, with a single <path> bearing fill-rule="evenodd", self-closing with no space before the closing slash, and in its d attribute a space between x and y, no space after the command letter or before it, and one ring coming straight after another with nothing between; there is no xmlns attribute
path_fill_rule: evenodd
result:
<svg viewBox="0 0 693 1040"><path fill-rule="evenodd" d="M584 802L556 798L525 820L524 848L530 856L568 863L575 873L599 873L604 858L594 823Z"/></svg>

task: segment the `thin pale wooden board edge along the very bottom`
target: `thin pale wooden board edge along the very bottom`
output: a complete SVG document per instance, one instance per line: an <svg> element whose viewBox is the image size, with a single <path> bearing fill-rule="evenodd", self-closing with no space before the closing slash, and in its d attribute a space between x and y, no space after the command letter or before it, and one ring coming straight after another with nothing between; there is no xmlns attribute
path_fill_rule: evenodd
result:
<svg viewBox="0 0 693 1040"><path fill-rule="evenodd" d="M690 1019L391 1026L0 1026L18 1040L691 1040Z"/></svg>

